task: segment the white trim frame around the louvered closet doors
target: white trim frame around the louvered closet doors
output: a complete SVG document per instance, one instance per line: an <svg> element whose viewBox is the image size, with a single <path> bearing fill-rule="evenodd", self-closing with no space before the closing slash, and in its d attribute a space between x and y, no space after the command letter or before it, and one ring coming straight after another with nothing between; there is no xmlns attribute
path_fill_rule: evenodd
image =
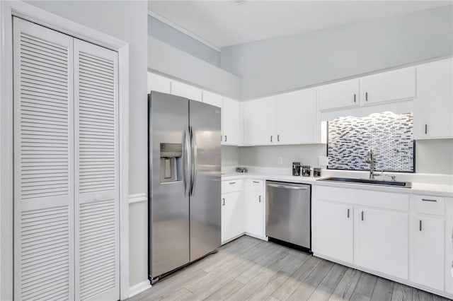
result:
<svg viewBox="0 0 453 301"><path fill-rule="evenodd" d="M118 52L120 299L129 297L129 43L22 1L0 1L0 300L13 300L13 16Z"/></svg>

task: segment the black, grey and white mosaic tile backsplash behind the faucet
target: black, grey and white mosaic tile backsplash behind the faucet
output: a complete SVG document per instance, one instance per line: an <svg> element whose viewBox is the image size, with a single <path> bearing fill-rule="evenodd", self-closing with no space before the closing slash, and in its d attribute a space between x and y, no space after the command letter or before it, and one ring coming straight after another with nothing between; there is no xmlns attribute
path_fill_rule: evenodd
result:
<svg viewBox="0 0 453 301"><path fill-rule="evenodd" d="M383 112L367 117L338 117L328 122L328 168L369 170L369 150L376 170L414 172L413 115Z"/></svg>

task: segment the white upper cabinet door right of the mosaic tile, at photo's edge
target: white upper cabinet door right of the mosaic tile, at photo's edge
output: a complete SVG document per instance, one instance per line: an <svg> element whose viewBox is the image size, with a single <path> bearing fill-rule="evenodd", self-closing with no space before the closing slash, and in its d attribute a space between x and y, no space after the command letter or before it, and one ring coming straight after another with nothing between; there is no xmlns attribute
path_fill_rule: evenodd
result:
<svg viewBox="0 0 453 301"><path fill-rule="evenodd" d="M453 59L417 67L413 136L453 138Z"/></svg>

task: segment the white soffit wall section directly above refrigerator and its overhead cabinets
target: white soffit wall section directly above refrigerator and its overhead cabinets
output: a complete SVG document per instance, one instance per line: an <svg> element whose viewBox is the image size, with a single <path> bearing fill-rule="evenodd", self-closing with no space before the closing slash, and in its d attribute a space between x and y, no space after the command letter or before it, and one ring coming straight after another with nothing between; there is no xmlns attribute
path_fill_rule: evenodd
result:
<svg viewBox="0 0 453 301"><path fill-rule="evenodd" d="M148 37L148 68L229 98L241 99L241 78Z"/></svg>

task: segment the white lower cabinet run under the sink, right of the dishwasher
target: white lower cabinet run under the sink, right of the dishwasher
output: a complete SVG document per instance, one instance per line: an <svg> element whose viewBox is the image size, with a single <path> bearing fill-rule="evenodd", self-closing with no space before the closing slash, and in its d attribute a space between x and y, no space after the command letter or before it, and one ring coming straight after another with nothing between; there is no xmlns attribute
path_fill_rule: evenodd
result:
<svg viewBox="0 0 453 301"><path fill-rule="evenodd" d="M451 294L452 201L316 186L313 252L432 293Z"/></svg>

